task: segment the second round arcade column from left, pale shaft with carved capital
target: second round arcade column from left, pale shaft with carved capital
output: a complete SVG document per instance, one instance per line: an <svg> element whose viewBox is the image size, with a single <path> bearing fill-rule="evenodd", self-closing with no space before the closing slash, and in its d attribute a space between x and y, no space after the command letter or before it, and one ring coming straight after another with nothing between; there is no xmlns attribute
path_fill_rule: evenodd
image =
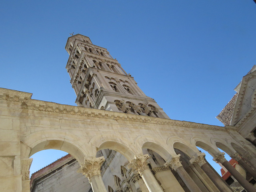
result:
<svg viewBox="0 0 256 192"><path fill-rule="evenodd" d="M134 159L131 160L128 168L133 168L138 171L150 192L164 192L148 167L146 162L148 158L150 158L148 154L136 155Z"/></svg>

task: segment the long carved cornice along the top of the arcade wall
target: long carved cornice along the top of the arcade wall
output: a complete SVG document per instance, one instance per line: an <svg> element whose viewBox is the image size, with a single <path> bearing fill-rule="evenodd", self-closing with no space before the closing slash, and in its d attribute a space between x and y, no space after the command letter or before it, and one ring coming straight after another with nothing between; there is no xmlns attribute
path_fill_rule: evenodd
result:
<svg viewBox="0 0 256 192"><path fill-rule="evenodd" d="M85 108L85 107L78 107L78 106L70 106L70 105L46 102L41 100L33 100L33 99L30 99L32 95L30 93L7 90L3 88L0 88L0 93L2 93L2 98L0 98L2 100L17 101L22 103L23 109L37 110L42 112L55 112L59 114L77 115L77 116L83 116L83 117L105 118L105 119L112 119L112 120L141 122L141 123L148 123L148 124L178 126L183 128L218 130L218 131L224 131L224 132L226 132L227 130L237 131L238 129L237 127L234 127L234 126L221 127L221 126L215 126L215 125L200 124L195 122L171 120L171 119L141 116L141 115L135 115L135 114L126 114L121 112L113 112L113 111L106 111L106 110L99 110L99 109L92 109L92 108ZM17 98L14 96L17 96Z"/></svg>

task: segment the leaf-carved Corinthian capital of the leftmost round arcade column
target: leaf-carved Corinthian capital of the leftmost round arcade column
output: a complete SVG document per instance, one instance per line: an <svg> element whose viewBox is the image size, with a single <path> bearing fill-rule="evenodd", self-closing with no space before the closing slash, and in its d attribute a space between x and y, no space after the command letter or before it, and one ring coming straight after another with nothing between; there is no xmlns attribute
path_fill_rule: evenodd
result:
<svg viewBox="0 0 256 192"><path fill-rule="evenodd" d="M100 175L100 166L104 161L104 156L88 159L84 158L84 164L81 165L81 168L77 172L82 173L90 180L93 176Z"/></svg>

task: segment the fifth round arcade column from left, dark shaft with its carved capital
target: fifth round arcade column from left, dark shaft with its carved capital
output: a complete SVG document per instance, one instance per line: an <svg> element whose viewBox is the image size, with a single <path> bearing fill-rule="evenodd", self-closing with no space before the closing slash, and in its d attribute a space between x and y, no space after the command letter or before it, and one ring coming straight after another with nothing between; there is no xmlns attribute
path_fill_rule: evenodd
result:
<svg viewBox="0 0 256 192"><path fill-rule="evenodd" d="M256 189L250 184L230 163L225 159L224 152L216 155L213 160L221 163L232 176L244 187L248 192L256 192Z"/></svg>

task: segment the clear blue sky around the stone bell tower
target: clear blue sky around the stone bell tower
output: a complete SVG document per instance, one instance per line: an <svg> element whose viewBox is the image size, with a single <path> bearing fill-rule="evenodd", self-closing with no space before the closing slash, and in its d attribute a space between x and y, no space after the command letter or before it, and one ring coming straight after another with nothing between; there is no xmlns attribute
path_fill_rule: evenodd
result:
<svg viewBox="0 0 256 192"><path fill-rule="evenodd" d="M253 0L3 0L0 24L0 87L61 104L76 99L72 32L107 48L176 120L223 126L215 117L256 64Z"/></svg>

